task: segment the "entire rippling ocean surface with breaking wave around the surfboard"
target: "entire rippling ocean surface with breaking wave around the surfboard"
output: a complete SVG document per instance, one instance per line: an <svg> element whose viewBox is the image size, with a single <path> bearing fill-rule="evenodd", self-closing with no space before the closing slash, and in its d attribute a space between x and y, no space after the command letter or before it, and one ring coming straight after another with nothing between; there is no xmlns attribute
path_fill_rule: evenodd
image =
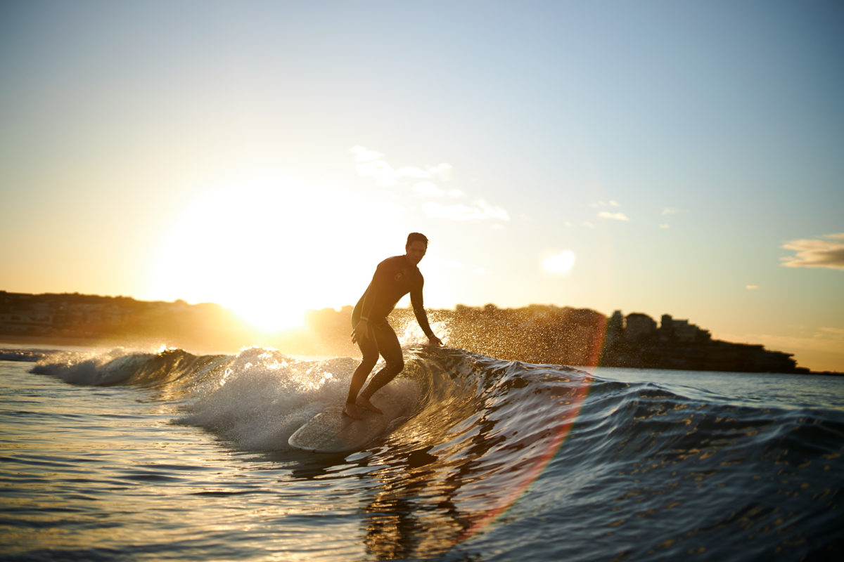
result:
<svg viewBox="0 0 844 562"><path fill-rule="evenodd" d="M3 560L839 560L844 379L408 346L365 450L288 436L356 361L0 345Z"/></svg>

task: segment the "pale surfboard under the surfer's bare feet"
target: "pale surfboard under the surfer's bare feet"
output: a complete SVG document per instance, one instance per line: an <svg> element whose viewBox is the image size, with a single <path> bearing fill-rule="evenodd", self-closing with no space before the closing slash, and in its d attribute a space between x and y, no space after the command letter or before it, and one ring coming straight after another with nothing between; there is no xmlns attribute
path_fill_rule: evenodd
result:
<svg viewBox="0 0 844 562"><path fill-rule="evenodd" d="M363 420L353 420L342 408L324 409L296 430L287 442L290 447L311 452L359 451L387 430L389 415L363 410Z"/></svg>

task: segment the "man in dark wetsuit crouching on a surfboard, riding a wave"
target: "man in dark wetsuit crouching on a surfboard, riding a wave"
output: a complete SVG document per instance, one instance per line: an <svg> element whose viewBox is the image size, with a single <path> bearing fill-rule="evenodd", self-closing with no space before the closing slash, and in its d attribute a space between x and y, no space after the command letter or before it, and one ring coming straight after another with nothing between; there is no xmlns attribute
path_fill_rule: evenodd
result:
<svg viewBox="0 0 844 562"><path fill-rule="evenodd" d="M392 326L387 322L387 316L396 308L398 299L410 293L410 303L413 305L416 321L428 336L428 343L442 345L442 340L430 329L428 315L422 306L422 285L425 280L416 265L425 257L427 250L428 238L425 234L409 233L408 242L404 246L405 254L387 258L378 264L372 281L354 307L352 342L360 347L363 359L352 375L349 397L343 412L355 420L363 419L361 408L377 414L382 413L370 402L372 394L392 381L404 368L402 346L399 345ZM379 354L387 364L381 371L376 372L364 391L360 392L366 377L369 377L375 367Z"/></svg>

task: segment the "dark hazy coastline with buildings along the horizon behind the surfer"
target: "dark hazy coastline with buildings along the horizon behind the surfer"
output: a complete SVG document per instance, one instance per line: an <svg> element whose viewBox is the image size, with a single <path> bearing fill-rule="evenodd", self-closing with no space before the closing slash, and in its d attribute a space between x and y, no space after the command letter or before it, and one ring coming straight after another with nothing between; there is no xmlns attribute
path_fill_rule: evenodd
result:
<svg viewBox="0 0 844 562"><path fill-rule="evenodd" d="M267 345L289 354L356 356L349 342L351 307L306 313L305 325L275 334L253 329L213 303L138 301L79 293L28 294L0 291L0 341L18 345L123 345L182 347L228 353ZM398 328L414 323L397 309ZM451 330L449 343L500 359L573 366L636 367L684 371L811 372L793 354L762 345L712 340L705 329L668 314L657 323L646 314L609 318L586 308L530 305L482 308L457 305L430 309L432 322Z"/></svg>

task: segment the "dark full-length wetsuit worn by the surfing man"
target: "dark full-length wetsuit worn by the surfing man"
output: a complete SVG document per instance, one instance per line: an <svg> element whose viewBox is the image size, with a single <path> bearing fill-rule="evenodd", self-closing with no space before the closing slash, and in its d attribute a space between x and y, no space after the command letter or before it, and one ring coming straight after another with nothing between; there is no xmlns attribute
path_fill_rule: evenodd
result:
<svg viewBox="0 0 844 562"><path fill-rule="evenodd" d="M410 303L413 305L416 320L425 332L425 335L432 337L434 332L428 324L428 316L422 304L422 286L425 279L419 272L419 268L411 265L403 255L397 255L378 264L372 281L366 287L360 301L355 305L352 312L352 328L354 329L361 319L365 319L369 325L368 338L358 338L358 346L363 354L363 359L354 372L352 383L349 387L350 403L360 392L360 388L375 367L378 356L381 355L386 365L381 371L372 377L366 387L365 395L368 399L373 393L393 377L398 375L404 368L402 357L402 346L398 343L398 337L387 322L387 316L396 308L398 300L410 293Z"/></svg>

